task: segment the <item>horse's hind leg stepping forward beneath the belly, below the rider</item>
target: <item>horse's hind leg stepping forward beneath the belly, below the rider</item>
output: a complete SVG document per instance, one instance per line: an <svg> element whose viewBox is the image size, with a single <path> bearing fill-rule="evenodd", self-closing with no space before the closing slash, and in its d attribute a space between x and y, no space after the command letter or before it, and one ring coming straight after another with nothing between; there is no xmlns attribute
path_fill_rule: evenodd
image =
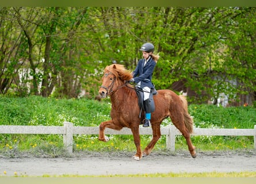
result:
<svg viewBox="0 0 256 184"><path fill-rule="evenodd" d="M151 151L153 150L155 143L159 140L159 138L161 137L161 129L160 129L160 124L151 124L152 126L152 134L153 134L153 138L150 141L150 143L147 145L147 147L145 148L145 150L143 151L143 156L147 156L151 153Z"/></svg>

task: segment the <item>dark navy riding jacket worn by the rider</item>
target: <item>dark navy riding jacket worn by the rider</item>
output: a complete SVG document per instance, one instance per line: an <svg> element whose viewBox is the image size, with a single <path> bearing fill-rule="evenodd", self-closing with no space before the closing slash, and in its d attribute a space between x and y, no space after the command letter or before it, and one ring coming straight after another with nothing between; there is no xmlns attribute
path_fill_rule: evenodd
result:
<svg viewBox="0 0 256 184"><path fill-rule="evenodd" d="M150 87L153 88L151 82L153 71L156 65L156 62L152 57L148 60L147 64L144 66L145 59L140 59L135 70L133 71L133 79L135 83L140 82L140 87ZM137 76L138 75L138 76Z"/></svg>

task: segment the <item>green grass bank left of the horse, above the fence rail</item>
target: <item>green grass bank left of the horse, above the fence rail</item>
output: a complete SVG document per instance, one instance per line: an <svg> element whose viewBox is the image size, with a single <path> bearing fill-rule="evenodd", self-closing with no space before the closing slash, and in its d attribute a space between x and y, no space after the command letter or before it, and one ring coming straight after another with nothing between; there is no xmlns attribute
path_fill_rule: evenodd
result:
<svg viewBox="0 0 256 184"><path fill-rule="evenodd" d="M2 125L63 125L69 121L94 126L109 119L110 104L90 99L0 96L0 109Z"/></svg>

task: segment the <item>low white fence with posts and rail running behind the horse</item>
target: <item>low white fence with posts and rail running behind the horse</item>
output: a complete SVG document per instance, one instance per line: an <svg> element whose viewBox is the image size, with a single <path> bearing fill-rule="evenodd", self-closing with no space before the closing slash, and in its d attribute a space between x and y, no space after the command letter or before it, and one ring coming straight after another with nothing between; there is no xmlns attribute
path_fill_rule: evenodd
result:
<svg viewBox="0 0 256 184"><path fill-rule="evenodd" d="M140 128L140 135L152 135L151 128ZM10 134L60 134L68 152L72 152L73 135L98 135L98 127L73 127L71 122L64 122L63 127L58 126L19 126L0 125L0 133ZM132 135L131 129L123 128L121 131L106 128L106 135ZM174 125L161 128L161 134L166 135L166 148L175 151L175 135L181 135ZM254 129L210 129L194 128L192 136L254 136L254 150L256 150L256 125Z"/></svg>

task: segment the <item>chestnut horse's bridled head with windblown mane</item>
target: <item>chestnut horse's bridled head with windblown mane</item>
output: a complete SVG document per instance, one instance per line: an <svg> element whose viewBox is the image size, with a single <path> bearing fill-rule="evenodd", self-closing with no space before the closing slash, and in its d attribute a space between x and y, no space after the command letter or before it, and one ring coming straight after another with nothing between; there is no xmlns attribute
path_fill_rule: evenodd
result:
<svg viewBox="0 0 256 184"><path fill-rule="evenodd" d="M101 98L106 98L113 91L124 85L125 81L132 78L132 72L125 69L121 64L106 66L102 76L102 85L99 90Z"/></svg>

